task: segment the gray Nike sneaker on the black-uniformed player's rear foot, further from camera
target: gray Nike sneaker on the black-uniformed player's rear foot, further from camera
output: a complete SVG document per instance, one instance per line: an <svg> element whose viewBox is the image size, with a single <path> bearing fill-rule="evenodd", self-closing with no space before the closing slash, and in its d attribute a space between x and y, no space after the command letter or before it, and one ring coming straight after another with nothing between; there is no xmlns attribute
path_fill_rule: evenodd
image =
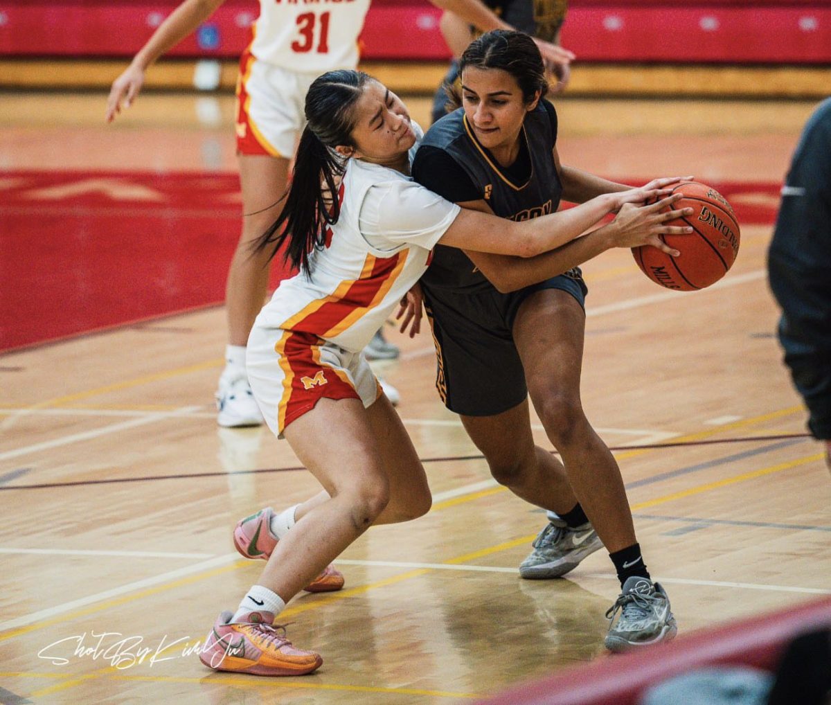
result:
<svg viewBox="0 0 831 705"><path fill-rule="evenodd" d="M548 524L534 539L534 550L519 565L525 579L559 578L577 568L587 555L602 548L602 541L591 524L572 529L557 515L548 514Z"/></svg>

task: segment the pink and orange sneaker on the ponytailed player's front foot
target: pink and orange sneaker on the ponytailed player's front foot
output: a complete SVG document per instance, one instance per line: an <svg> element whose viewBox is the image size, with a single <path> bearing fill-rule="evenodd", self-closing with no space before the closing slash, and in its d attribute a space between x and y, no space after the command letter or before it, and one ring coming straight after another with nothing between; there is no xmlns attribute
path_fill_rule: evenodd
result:
<svg viewBox="0 0 831 705"><path fill-rule="evenodd" d="M239 623L232 623L233 618L233 612L220 614L205 639L199 660L208 668L257 676L302 676L323 663L319 653L294 648L286 629L272 626L271 612L249 612Z"/></svg>

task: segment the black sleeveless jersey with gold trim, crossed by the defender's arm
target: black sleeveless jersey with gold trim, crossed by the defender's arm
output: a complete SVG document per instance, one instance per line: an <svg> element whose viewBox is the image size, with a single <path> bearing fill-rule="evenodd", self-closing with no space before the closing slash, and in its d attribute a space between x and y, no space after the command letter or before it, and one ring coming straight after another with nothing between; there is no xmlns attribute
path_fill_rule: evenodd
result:
<svg viewBox="0 0 831 705"><path fill-rule="evenodd" d="M528 151L530 160L530 174L519 183L499 166L489 150L479 144L462 108L430 127L420 149L436 148L449 155L470 177L480 198L501 218L527 220L553 213L558 209L563 186L552 156L556 114L550 103L543 106L540 101L534 111L525 116L519 139L524 141L520 149ZM413 176L430 190L453 200L451 194L441 193L439 184L430 183L429 175L425 178L423 173L419 174L416 165ZM430 288L479 291L493 286L460 249L444 245L436 245L430 267L421 280Z"/></svg>

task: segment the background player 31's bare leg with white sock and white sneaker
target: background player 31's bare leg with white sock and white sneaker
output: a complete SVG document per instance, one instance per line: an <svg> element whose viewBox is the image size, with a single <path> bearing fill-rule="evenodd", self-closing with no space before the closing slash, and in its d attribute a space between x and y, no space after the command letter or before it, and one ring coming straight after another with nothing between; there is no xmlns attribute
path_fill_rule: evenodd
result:
<svg viewBox="0 0 831 705"><path fill-rule="evenodd" d="M245 344L268 290L268 252L254 254L251 243L277 219L277 201L288 179L288 159L283 157L239 155L238 163L243 230L225 284L229 344L217 391L220 426L263 423L245 376Z"/></svg>

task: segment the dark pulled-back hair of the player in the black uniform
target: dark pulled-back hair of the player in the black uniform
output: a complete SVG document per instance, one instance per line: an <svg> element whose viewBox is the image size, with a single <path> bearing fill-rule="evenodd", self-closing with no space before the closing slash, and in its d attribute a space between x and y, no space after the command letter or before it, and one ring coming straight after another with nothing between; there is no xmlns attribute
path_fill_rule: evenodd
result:
<svg viewBox="0 0 831 705"><path fill-rule="evenodd" d="M542 98L548 92L543 57L534 39L524 32L494 29L470 42L459 62L459 76L466 68L500 68L507 71L522 91L523 100L530 103L539 91ZM445 86L453 106L462 104L459 86Z"/></svg>

